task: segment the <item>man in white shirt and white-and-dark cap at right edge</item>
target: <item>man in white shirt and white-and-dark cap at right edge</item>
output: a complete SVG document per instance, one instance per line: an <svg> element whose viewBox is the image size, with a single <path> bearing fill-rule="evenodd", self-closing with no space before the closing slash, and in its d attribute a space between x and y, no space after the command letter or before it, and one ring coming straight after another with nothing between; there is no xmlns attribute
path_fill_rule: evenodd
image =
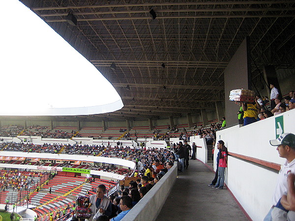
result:
<svg viewBox="0 0 295 221"><path fill-rule="evenodd" d="M277 146L279 156L286 158L286 163L281 166L279 171L277 185L272 197L272 207L266 215L264 221L271 221L271 212L280 201L282 195L288 191L287 177L290 173L295 173L295 135L284 133L277 139L269 140L270 145Z"/></svg>

